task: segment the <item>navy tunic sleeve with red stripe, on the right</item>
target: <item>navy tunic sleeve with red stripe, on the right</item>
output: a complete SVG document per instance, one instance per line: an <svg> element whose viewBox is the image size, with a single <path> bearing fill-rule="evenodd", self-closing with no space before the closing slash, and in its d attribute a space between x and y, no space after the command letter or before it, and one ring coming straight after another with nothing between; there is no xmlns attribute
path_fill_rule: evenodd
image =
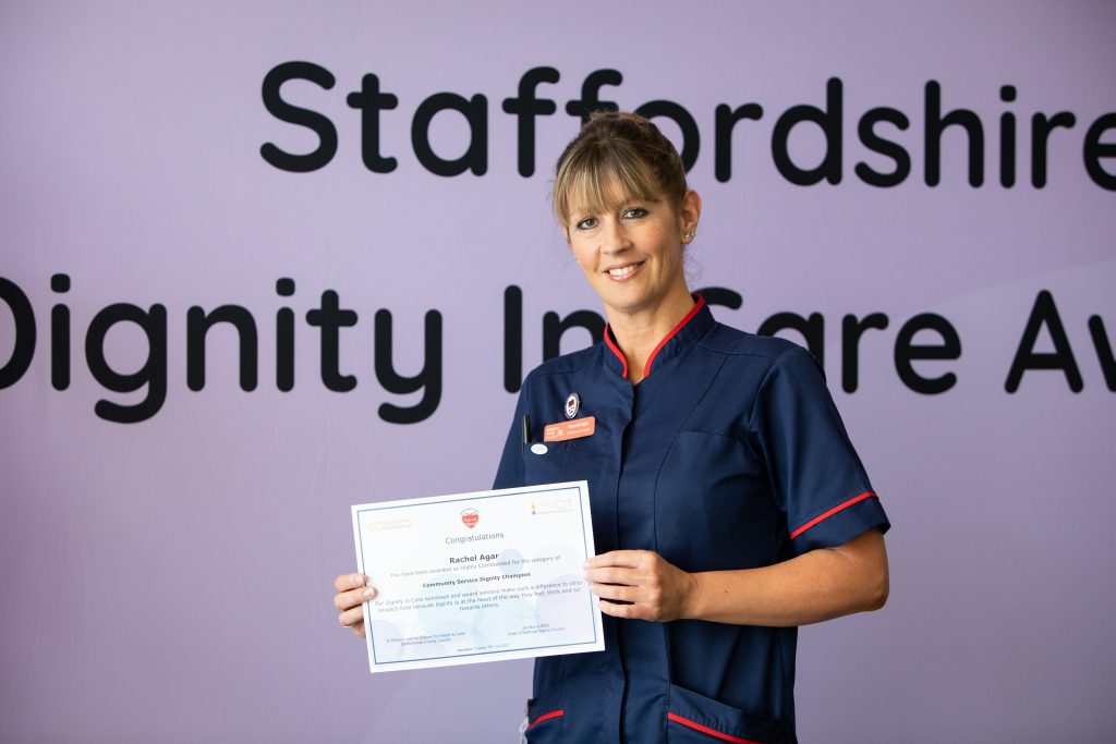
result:
<svg viewBox="0 0 1116 744"><path fill-rule="evenodd" d="M849 442L817 360L782 352L756 399L749 442L763 460L796 553L891 524Z"/></svg>

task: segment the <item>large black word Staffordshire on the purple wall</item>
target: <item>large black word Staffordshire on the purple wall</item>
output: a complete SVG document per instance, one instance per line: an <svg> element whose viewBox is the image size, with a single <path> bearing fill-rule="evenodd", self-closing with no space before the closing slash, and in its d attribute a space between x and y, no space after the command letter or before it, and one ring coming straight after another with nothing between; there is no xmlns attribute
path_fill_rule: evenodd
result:
<svg viewBox="0 0 1116 744"><path fill-rule="evenodd" d="M535 173L536 119L558 112L558 102L540 95L539 86L556 85L560 79L557 68L535 67L520 77L517 95L501 103L501 110L516 117L517 163L522 176ZM290 91L285 91L285 85L291 81L309 83L321 90L331 90L337 78L325 67L309 61L282 62L263 78L261 93L267 110L280 122L309 129L317 138L317 146L307 153L291 153L269 142L260 147L260 155L281 171L308 173L325 167L334 160L338 148L337 126L320 110L309 107L309 102L316 102L312 105L318 108L327 106L328 102L312 89L307 91L305 85L299 86L301 93L294 96L301 105L291 103ZM590 112L616 110L619 105L603 98L602 88L617 88L623 81L619 70L589 73L581 81L580 97L566 102L566 114L577 119L576 125L579 125ZM1070 112L1017 110L1018 96L1014 86L1000 87L997 107L1001 110L994 124L969 108L947 109L942 86L936 80L925 84L922 108L914 114L891 106L875 106L849 116L845 84L837 77L826 83L824 102L798 104L773 116L758 102L722 103L714 107L712 116L713 172L718 181L729 181L739 160L739 156L733 156L733 147L742 149L743 138L763 136L770 139L776 170L790 183L801 186L821 182L838 184L845 177L845 162L849 160L846 153L855 147L846 134L848 128L856 131L859 152L864 156L853 166L853 173L869 186L891 187L906 181L915 168L912 153L920 149L923 182L927 186L936 186L943 177L943 141L951 138L955 143L964 143L968 154L965 177L971 186L984 183L987 153L992 155L1000 185L1006 189L1014 186L1019 170L1017 151L1021 145L1029 155L1031 186L1042 189L1048 180L1050 139L1074 137L1075 144L1079 143L1081 163L1088 177L1101 189L1116 191L1116 142L1112 142L1112 137L1106 139L1106 135L1116 136L1116 113L1104 114L1078 128L1077 116ZM385 90L379 76L369 73L363 76L358 90L345 96L345 103L359 112L360 158L365 167L373 173L395 171L398 157L385 151L397 153L401 143L383 142L382 119L394 116L386 112L398 108L400 97ZM628 106L625 104L625 108ZM709 144L710 133L701 131L699 117L690 109L673 100L656 99L636 106L635 110L648 118L673 122L681 132L679 148L683 165L690 171L696 164L703 145ZM464 151L452 156L435 152L431 141L432 123L448 112L455 115L468 134ZM1029 126L1019 125L1017 119L1020 114L1029 115ZM430 173L441 176L456 176L465 172L483 175L489 165L489 99L482 94L465 97L456 93L435 93L411 113L411 149ZM768 132L764 125L770 119L775 123ZM820 158L811 154L807 155L810 162L802 163L801 151L797 154L792 152L791 141L799 131L812 131L824 137L825 151ZM569 136L575 133L576 126L571 123ZM985 147L985 138L993 135L999 146ZM1108 167L1104 164L1106 160L1113 162Z"/></svg>

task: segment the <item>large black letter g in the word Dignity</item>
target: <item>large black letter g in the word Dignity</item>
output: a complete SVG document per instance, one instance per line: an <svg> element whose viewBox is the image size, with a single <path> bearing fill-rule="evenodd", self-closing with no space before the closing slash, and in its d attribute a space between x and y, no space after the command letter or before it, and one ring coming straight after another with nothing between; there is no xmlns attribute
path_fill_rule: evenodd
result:
<svg viewBox="0 0 1116 744"><path fill-rule="evenodd" d="M105 337L113 326L132 322L147 337L147 359L132 374L113 369L105 359ZM166 308L153 305L148 310L117 303L94 316L85 336L85 359L94 379L113 393L134 393L147 386L147 396L134 406L97 400L93 410L116 424L137 424L158 413L166 400Z"/></svg>

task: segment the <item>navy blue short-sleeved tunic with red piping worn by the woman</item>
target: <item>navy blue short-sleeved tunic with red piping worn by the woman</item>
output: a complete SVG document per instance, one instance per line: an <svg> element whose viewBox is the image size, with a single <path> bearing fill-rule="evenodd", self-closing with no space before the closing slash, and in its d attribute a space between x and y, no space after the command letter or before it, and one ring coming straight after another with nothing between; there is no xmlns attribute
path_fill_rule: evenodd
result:
<svg viewBox="0 0 1116 744"><path fill-rule="evenodd" d="M699 298L633 386L605 337L528 375L494 487L586 480L598 553L652 550L685 571L888 528L808 351L722 326ZM571 393L596 433L535 454ZM536 660L530 742L796 741L796 628L604 620L604 651Z"/></svg>

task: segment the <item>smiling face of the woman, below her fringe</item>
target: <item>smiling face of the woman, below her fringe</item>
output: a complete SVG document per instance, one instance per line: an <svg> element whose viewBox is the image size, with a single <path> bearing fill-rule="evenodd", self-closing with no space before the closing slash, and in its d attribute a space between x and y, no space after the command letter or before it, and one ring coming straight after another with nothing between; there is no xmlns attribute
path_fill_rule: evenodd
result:
<svg viewBox="0 0 1116 744"><path fill-rule="evenodd" d="M569 248L609 312L654 311L689 298L683 245L701 214L696 192L687 191L677 209L665 197L638 201L619 193L602 211L579 203L577 194L570 203Z"/></svg>

